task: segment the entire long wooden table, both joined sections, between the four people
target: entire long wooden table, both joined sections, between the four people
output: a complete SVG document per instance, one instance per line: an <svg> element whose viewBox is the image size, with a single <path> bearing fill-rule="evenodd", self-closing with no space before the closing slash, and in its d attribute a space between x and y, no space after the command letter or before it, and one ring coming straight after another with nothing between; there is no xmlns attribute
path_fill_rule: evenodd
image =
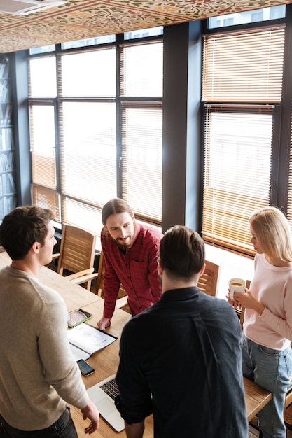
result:
<svg viewBox="0 0 292 438"><path fill-rule="evenodd" d="M6 265L11 264L11 259L6 252L0 253L0 269ZM97 295L93 294L87 289L81 288L81 286L71 283L66 277L62 277L55 271L42 267L39 273L39 280L41 283L55 289L64 298L67 304L69 312L77 309L85 309L93 314L90 324L96 325L97 321L102 318L104 300ZM117 341L107 346L101 351L98 351L87 361L92 367L95 368L95 373L88 377L83 377L86 388L90 388L95 383L102 381L111 374L116 373L118 369L118 351L120 343L120 334L123 330L125 323L130 320L129 313L116 309L111 320L111 327L106 330L110 334L118 337ZM267 390L256 385L249 379L244 379L245 389L245 402L246 402L246 415L248 421L253 418L260 409L262 409L267 402L272 398L271 393ZM84 433L84 428L88 424L88 421L83 421L80 409L76 409L71 406L71 414L76 425L79 438L88 438L88 435ZM99 423L99 430L90 435L92 438L104 437L112 438L119 436L125 438L125 430L123 432L115 432L111 426L101 417ZM144 438L153 438L153 416L149 416L145 421Z"/></svg>

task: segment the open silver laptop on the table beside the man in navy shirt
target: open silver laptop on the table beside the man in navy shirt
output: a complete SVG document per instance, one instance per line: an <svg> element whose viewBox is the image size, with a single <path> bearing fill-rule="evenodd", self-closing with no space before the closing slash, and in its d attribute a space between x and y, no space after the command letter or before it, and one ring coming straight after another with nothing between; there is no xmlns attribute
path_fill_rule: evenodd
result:
<svg viewBox="0 0 292 438"><path fill-rule="evenodd" d="M115 406L115 397L118 395L118 387L116 386L115 377L116 374L113 374L92 386L87 391L90 399L95 404L104 420L106 420L117 432L121 432L125 429L125 422Z"/></svg>

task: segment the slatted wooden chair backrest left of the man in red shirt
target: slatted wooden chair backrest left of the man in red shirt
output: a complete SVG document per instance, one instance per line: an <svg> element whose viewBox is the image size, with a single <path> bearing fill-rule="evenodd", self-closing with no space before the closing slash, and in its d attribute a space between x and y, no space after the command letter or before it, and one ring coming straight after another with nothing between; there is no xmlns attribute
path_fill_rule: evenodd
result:
<svg viewBox="0 0 292 438"><path fill-rule="evenodd" d="M75 274L93 268L96 239L95 234L85 229L63 225L58 274L63 275L64 269Z"/></svg>

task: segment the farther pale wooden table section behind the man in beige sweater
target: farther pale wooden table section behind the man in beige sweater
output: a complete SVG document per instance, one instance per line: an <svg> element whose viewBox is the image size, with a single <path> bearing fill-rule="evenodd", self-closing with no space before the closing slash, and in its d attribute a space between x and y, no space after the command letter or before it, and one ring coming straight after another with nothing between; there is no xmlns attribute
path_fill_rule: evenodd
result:
<svg viewBox="0 0 292 438"><path fill-rule="evenodd" d="M0 269L11 264L11 258L6 252L0 253ZM99 301L101 298L67 280L66 277L57 274L45 266L39 271L39 281L44 285L56 290L64 298L68 312L81 309L87 304Z"/></svg>

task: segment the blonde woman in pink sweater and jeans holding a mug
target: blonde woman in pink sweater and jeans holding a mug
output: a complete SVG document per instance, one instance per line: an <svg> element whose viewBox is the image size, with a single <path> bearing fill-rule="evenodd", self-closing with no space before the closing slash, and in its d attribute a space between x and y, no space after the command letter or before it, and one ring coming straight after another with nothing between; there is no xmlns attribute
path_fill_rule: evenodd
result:
<svg viewBox="0 0 292 438"><path fill-rule="evenodd" d="M265 207L251 216L256 250L250 290L235 293L246 308L242 334L243 373L272 393L258 413L264 438L286 438L284 403L292 372L292 236L279 209Z"/></svg>

